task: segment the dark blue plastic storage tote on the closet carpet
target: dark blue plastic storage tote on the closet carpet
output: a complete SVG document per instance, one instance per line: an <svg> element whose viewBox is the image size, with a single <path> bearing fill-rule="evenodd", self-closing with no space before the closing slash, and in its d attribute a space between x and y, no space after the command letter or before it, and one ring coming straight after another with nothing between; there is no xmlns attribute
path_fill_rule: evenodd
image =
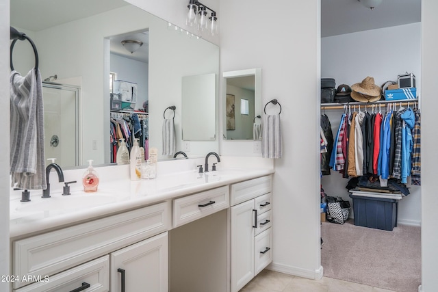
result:
<svg viewBox="0 0 438 292"><path fill-rule="evenodd" d="M395 199L350 195L353 199L355 225L392 231L397 226Z"/></svg>

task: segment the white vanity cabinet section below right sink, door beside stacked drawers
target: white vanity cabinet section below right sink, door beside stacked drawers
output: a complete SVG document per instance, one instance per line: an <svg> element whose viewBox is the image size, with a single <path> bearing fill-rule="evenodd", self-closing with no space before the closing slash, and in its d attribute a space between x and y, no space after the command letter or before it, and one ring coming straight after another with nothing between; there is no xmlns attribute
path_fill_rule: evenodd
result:
<svg viewBox="0 0 438 292"><path fill-rule="evenodd" d="M272 262L272 177L231 185L231 292Z"/></svg>

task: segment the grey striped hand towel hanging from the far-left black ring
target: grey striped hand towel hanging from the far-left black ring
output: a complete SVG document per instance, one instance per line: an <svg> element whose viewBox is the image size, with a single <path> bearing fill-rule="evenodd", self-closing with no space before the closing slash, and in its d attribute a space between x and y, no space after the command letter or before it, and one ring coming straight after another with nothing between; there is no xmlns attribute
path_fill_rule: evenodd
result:
<svg viewBox="0 0 438 292"><path fill-rule="evenodd" d="M25 77L11 72L10 131L12 187L46 189L44 106L39 70L33 68Z"/></svg>

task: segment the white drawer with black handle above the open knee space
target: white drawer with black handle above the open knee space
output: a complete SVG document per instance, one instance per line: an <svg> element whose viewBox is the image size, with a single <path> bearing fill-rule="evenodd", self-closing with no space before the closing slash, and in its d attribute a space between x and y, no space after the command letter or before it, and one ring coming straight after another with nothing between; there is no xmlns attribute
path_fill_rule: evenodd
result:
<svg viewBox="0 0 438 292"><path fill-rule="evenodd" d="M227 186L175 199L173 200L173 227L227 209L229 205L229 187Z"/></svg>

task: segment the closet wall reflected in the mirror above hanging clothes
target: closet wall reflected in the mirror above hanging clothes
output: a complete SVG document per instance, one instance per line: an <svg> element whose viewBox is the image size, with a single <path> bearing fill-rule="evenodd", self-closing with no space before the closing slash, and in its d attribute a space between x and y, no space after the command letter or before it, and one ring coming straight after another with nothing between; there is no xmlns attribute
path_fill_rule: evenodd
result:
<svg viewBox="0 0 438 292"><path fill-rule="evenodd" d="M110 54L110 70L117 73L117 79L137 83L136 109L142 109L148 100L149 65L120 55Z"/></svg>

